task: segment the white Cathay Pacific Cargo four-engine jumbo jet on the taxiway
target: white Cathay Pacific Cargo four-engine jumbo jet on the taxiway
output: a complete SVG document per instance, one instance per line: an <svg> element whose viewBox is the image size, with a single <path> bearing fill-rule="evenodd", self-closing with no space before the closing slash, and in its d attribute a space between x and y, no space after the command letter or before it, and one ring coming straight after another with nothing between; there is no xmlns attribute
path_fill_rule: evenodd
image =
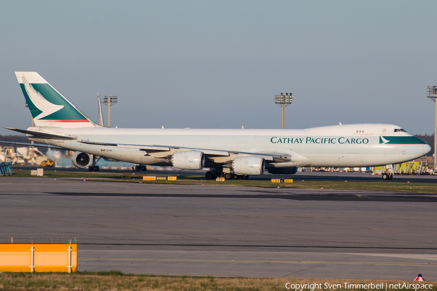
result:
<svg viewBox="0 0 437 291"><path fill-rule="evenodd" d="M417 159L425 142L389 124L310 129L118 129L94 123L36 72L15 72L34 126L31 141L76 151L73 162L103 156L145 165L201 170L206 178L295 174L298 167L368 167ZM384 179L391 179L389 172Z"/></svg>

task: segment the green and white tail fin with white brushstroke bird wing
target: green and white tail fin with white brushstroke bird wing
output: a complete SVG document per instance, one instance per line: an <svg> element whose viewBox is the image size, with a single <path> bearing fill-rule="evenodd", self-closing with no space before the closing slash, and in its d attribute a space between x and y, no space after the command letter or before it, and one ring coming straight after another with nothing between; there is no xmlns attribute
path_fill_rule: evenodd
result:
<svg viewBox="0 0 437 291"><path fill-rule="evenodd" d="M96 124L36 72L15 72L35 126L83 128Z"/></svg>

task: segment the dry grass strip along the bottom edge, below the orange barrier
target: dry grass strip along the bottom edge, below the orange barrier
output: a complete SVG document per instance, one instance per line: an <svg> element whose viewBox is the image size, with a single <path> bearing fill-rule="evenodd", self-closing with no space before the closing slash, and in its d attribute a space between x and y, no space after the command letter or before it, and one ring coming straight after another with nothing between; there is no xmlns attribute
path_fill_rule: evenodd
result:
<svg viewBox="0 0 437 291"><path fill-rule="evenodd" d="M350 279L313 279L313 278L258 278L258 277L218 277L218 276L165 276L130 275L119 271L97 273L2 273L0 290L10 291L276 291L286 289L290 284L319 284L315 288L303 288L302 291L338 290L333 284L340 284L343 291L385 290L370 288L348 288L349 284L387 283L387 290L399 291L394 284L432 284L432 288L416 289L437 291L437 282L393 281L393 280L350 280ZM321 285L320 285L321 284ZM390 284L393 288L389 288ZM290 286L290 285L287 285ZM408 285L407 285L408 286ZM308 286L309 287L309 286ZM349 286L351 287L351 286ZM353 286L357 287L357 286ZM361 287L361 286L358 286ZM364 286L362 286L364 287ZM428 285L428 287L430 287ZM293 289L294 290L294 289ZM299 288L301 290L301 288ZM414 290L414 287L402 289Z"/></svg>

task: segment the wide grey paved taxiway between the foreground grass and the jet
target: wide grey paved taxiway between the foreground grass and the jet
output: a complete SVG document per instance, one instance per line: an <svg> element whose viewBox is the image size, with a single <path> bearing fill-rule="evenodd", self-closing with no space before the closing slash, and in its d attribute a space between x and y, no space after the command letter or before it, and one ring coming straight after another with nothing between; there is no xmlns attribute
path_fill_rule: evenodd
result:
<svg viewBox="0 0 437 291"><path fill-rule="evenodd" d="M437 281L437 194L0 179L0 242L79 271Z"/></svg>

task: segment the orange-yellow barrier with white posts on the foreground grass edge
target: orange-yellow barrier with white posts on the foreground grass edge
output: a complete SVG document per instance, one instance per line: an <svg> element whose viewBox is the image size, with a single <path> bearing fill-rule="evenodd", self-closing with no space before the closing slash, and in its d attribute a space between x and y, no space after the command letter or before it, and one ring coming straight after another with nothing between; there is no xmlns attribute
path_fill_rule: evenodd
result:
<svg viewBox="0 0 437 291"><path fill-rule="evenodd" d="M1 272L77 272L77 244L0 244Z"/></svg>

